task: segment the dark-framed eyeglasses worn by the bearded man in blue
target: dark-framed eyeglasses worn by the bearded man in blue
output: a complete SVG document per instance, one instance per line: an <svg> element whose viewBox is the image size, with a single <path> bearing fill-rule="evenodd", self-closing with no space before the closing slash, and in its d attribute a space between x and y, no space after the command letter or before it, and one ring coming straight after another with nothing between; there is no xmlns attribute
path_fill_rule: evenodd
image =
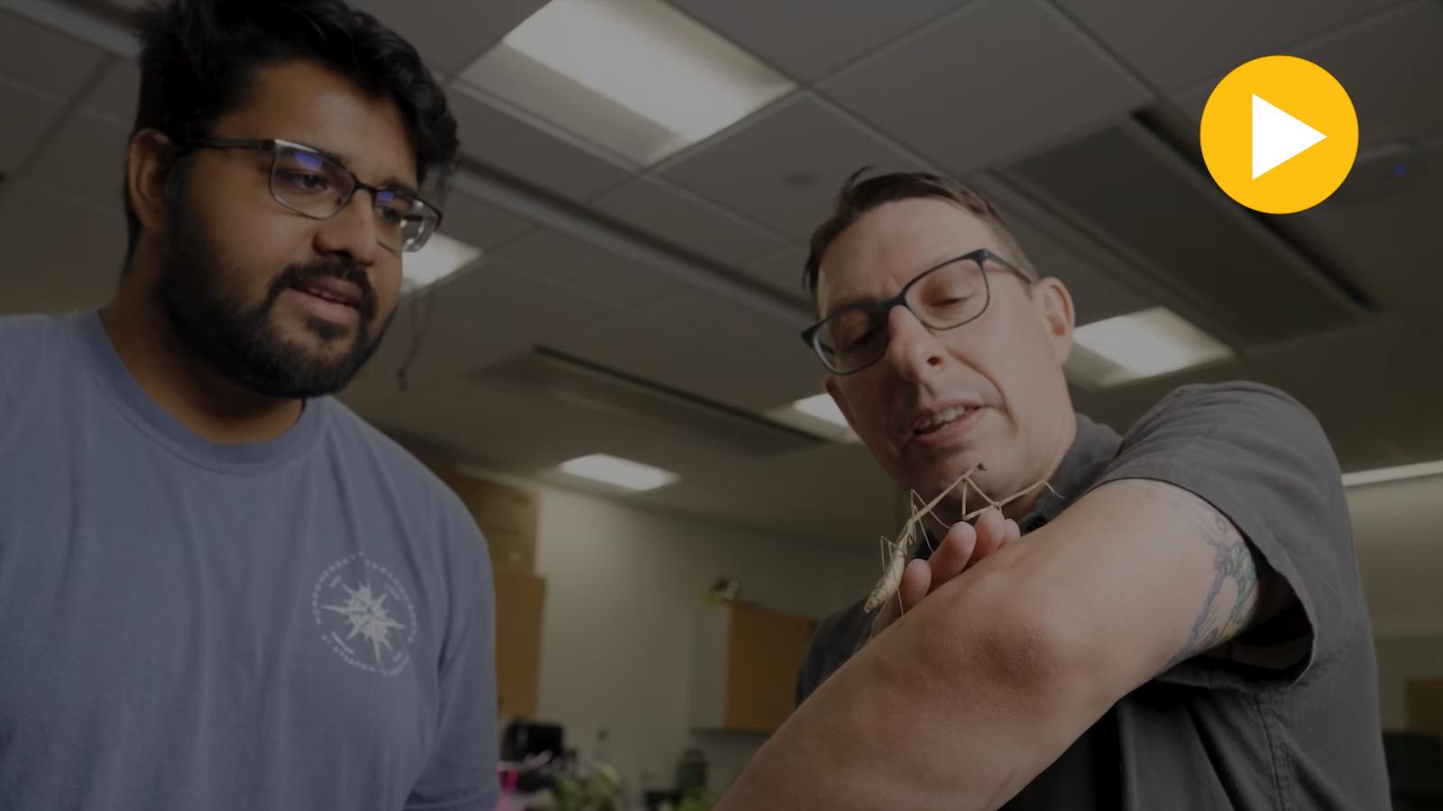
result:
<svg viewBox="0 0 1443 811"><path fill-rule="evenodd" d="M375 209L377 241L397 253L421 250L442 222L440 209L410 190L368 186L354 172L306 144L278 139L203 139L177 149L253 149L271 153L271 196L280 205L315 219L330 219L346 208L358 189L365 189L371 193Z"/></svg>

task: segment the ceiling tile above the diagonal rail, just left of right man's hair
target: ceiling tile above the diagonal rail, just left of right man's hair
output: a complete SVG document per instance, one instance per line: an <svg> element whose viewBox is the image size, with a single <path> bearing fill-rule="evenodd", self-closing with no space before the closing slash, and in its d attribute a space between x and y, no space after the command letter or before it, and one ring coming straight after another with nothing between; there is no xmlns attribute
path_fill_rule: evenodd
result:
<svg viewBox="0 0 1443 811"><path fill-rule="evenodd" d="M779 237L655 177L639 177L602 195L593 205L622 222L726 266L737 266L784 244Z"/></svg>

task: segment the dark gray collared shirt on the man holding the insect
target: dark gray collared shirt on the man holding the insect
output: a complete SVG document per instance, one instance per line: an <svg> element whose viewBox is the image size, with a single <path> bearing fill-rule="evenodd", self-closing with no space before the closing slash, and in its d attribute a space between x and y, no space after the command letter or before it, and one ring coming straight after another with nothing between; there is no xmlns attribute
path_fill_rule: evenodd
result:
<svg viewBox="0 0 1443 811"><path fill-rule="evenodd" d="M1003 808L1388 808L1352 524L1312 414L1281 391L1232 382L1173 391L1126 437L1078 416L1051 479L1061 498L1043 495L1023 532L1117 479L1169 482L1212 504L1299 602L1123 697ZM818 626L798 700L846 662L869 623L859 603Z"/></svg>

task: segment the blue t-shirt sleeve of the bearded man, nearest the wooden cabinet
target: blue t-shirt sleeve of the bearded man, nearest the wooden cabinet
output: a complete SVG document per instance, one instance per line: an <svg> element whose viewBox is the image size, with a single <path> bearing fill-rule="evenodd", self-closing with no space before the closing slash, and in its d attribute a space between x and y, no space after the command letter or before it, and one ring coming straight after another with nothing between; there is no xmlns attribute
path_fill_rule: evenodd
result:
<svg viewBox="0 0 1443 811"><path fill-rule="evenodd" d="M446 494L450 495L450 494ZM407 811L492 811L496 775L495 586L486 541L459 501L443 501L452 550L450 628L440 657L436 745Z"/></svg>

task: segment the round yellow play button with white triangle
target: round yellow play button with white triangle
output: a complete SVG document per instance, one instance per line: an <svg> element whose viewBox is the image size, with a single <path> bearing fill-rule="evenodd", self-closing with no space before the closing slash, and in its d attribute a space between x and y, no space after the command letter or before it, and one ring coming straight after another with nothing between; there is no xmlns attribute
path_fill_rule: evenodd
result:
<svg viewBox="0 0 1443 811"><path fill-rule="evenodd" d="M1227 195L1266 214L1312 208L1358 154L1358 115L1338 79L1294 56L1228 74L1202 113L1202 159Z"/></svg>

